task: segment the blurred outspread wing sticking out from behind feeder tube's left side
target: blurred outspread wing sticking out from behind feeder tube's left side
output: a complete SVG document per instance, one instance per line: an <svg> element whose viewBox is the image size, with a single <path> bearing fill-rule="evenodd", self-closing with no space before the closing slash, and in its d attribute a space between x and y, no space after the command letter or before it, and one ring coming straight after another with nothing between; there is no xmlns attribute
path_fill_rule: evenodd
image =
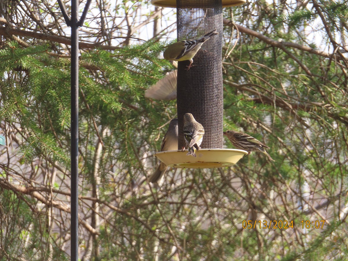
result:
<svg viewBox="0 0 348 261"><path fill-rule="evenodd" d="M164 78L145 91L145 97L166 101L176 99L176 80L177 70L167 73Z"/></svg>

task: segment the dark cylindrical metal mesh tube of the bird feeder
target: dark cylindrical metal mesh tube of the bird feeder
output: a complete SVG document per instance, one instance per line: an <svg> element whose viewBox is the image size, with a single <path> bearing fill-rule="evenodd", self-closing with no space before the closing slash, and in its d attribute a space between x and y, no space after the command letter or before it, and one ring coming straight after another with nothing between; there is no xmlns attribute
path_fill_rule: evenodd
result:
<svg viewBox="0 0 348 261"><path fill-rule="evenodd" d="M178 41L197 39L217 30L218 35L206 41L189 61L179 62L177 71L177 114L179 147L186 147L183 137L183 115L187 112L205 130L202 149L222 149L223 87L222 87L222 3L221 0L176 0Z"/></svg>

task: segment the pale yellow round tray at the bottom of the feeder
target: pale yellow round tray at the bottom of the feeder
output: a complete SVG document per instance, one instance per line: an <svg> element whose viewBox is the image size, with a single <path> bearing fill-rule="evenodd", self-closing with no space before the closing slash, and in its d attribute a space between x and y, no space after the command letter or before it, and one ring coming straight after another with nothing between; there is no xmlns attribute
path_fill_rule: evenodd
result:
<svg viewBox="0 0 348 261"><path fill-rule="evenodd" d="M186 154L187 150L168 150L157 152L155 156L175 168L220 168L235 165L248 152L235 149L200 149L196 151L197 157Z"/></svg>

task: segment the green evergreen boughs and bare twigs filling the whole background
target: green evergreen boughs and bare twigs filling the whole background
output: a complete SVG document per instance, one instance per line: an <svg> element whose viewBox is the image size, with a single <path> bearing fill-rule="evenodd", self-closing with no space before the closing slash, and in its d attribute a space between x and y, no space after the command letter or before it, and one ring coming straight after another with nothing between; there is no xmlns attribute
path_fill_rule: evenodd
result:
<svg viewBox="0 0 348 261"><path fill-rule="evenodd" d="M347 7L263 0L225 8L224 127L267 144L276 161L252 153L229 168L169 169L156 186L146 177L176 102L144 91L173 70L160 58L173 13L149 2L92 2L80 28L79 258L344 259ZM0 9L0 259L69 260L69 30L55 2ZM142 39L154 19L163 31ZM293 228L274 228L275 220Z"/></svg>

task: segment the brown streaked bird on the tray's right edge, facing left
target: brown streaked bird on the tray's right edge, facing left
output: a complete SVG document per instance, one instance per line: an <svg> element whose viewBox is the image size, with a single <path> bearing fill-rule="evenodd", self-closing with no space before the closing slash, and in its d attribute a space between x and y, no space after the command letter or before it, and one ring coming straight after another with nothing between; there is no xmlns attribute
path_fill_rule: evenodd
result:
<svg viewBox="0 0 348 261"><path fill-rule="evenodd" d="M226 132L223 132L223 135L227 136L232 145L237 149L246 150L248 154L251 154L252 151L260 151L266 154L269 160L275 161L271 156L269 156L266 150L264 150L264 148L269 149L269 147L261 143L259 140L256 140L254 137L244 132L236 132L234 130L227 130Z"/></svg>

